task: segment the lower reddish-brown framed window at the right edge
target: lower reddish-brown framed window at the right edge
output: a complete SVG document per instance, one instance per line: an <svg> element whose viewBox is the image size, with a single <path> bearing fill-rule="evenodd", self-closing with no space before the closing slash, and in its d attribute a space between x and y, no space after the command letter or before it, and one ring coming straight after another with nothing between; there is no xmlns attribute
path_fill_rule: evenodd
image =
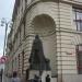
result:
<svg viewBox="0 0 82 82"><path fill-rule="evenodd" d="M77 46L78 73L82 74L82 44Z"/></svg>

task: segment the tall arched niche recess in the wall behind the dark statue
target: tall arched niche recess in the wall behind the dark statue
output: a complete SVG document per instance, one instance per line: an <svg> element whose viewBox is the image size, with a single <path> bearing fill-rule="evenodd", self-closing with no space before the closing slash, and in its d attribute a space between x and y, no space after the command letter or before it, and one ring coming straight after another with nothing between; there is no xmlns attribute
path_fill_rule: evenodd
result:
<svg viewBox="0 0 82 82"><path fill-rule="evenodd" d="M56 24L52 17L40 14L34 17L32 22L34 34L38 34L43 42L45 57L50 60L52 75L56 74Z"/></svg>

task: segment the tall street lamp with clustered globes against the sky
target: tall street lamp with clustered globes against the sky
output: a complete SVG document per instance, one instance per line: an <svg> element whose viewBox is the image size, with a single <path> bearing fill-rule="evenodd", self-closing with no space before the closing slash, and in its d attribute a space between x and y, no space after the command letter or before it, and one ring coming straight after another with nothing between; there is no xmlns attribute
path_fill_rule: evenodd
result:
<svg viewBox="0 0 82 82"><path fill-rule="evenodd" d="M5 44L7 44L7 31L8 31L8 27L12 26L12 22L11 21L8 21L5 19L2 19L1 20L1 26L5 26L5 34L4 34L4 46L3 46L3 56L5 55Z"/></svg>

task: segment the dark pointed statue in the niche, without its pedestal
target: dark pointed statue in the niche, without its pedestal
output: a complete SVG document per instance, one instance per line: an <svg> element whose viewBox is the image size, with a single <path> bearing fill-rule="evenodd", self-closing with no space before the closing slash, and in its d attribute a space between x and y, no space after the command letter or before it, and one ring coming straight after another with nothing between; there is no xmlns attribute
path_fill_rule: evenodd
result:
<svg viewBox="0 0 82 82"><path fill-rule="evenodd" d="M49 60L45 58L43 50L43 43L39 36L36 35L33 40L31 57L30 57L30 69L32 70L50 70Z"/></svg>

